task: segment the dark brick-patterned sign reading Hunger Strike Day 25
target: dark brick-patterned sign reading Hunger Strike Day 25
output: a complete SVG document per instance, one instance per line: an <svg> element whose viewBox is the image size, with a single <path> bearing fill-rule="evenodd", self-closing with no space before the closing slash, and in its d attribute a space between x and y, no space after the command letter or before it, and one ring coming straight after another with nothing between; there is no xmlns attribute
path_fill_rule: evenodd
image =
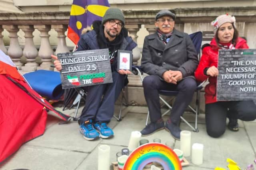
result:
<svg viewBox="0 0 256 170"><path fill-rule="evenodd" d="M108 49L58 53L62 89L112 83Z"/></svg>

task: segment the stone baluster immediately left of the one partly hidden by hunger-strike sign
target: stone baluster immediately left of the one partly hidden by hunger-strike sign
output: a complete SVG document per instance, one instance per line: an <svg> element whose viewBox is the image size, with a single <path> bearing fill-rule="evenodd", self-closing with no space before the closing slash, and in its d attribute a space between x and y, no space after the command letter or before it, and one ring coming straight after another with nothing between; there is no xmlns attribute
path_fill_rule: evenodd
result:
<svg viewBox="0 0 256 170"><path fill-rule="evenodd" d="M39 48L38 56L41 58L42 64L37 69L53 70L53 68L51 68L50 65L52 64L51 55L54 52L50 45L50 35L48 34L48 32L51 29L51 25L34 25L34 28L38 29L38 31L40 31L41 33L41 45Z"/></svg>

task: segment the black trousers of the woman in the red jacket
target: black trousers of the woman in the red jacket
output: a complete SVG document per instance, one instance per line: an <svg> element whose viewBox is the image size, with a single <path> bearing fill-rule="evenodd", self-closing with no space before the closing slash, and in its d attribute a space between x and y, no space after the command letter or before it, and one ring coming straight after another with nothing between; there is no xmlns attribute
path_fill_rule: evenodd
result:
<svg viewBox="0 0 256 170"><path fill-rule="evenodd" d="M253 101L216 102L205 105L206 131L211 137L220 137L226 130L226 118L253 121L256 105Z"/></svg>

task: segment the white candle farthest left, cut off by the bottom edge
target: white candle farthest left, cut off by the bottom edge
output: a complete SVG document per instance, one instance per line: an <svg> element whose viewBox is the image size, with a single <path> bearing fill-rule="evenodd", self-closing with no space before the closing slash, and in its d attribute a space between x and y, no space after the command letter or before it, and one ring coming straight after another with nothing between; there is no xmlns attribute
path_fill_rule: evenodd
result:
<svg viewBox="0 0 256 170"><path fill-rule="evenodd" d="M98 147L98 170L109 170L110 168L110 146L100 145Z"/></svg>

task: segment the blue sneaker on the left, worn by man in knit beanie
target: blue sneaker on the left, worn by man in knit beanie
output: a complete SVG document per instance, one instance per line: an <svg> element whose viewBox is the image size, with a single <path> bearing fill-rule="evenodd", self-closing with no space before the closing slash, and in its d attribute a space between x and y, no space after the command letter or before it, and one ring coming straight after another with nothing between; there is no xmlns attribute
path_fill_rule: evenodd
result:
<svg viewBox="0 0 256 170"><path fill-rule="evenodd" d="M88 141L98 139L100 134L94 129L92 120L85 121L80 125L80 133L84 135L84 138Z"/></svg>

